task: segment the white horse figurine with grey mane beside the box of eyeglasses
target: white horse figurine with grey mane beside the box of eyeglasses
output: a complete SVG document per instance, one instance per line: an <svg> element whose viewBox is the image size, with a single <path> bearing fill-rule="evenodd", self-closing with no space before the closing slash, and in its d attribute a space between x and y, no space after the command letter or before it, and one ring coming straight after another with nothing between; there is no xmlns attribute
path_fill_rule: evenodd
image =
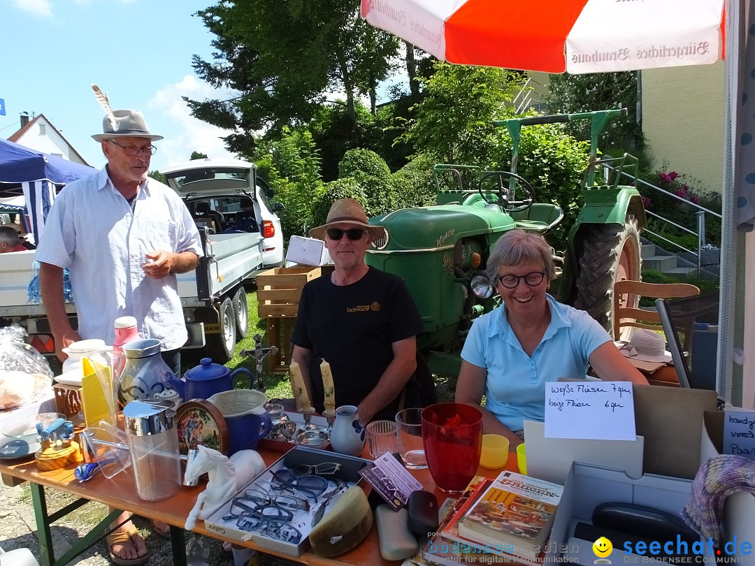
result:
<svg viewBox="0 0 755 566"><path fill-rule="evenodd" d="M186 467L186 480L194 481L205 472L209 476L207 488L196 498L183 528L191 531L198 518L204 519L212 509L230 499L236 491L265 469L260 454L254 450L240 450L232 457L199 444L199 454Z"/></svg>

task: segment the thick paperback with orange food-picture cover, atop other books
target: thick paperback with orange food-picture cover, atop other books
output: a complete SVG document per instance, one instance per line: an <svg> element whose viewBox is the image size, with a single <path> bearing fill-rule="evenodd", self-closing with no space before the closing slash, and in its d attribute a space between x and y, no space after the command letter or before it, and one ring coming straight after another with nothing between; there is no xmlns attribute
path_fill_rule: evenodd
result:
<svg viewBox="0 0 755 566"><path fill-rule="evenodd" d="M458 533L482 545L537 560L547 543L563 486L501 472L458 523Z"/></svg>

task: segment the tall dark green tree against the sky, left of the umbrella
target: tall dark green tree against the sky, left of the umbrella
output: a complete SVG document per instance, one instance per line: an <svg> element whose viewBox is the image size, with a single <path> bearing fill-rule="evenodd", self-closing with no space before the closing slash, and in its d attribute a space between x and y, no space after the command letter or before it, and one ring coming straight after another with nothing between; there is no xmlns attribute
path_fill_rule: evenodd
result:
<svg viewBox="0 0 755 566"><path fill-rule="evenodd" d="M197 75L239 96L184 100L196 118L235 130L224 139L244 155L254 150L254 131L275 137L285 125L309 121L331 91L346 94L356 125L356 96L374 100L399 45L359 17L359 0L220 0L198 15L216 35L217 51L214 62L194 56Z"/></svg>

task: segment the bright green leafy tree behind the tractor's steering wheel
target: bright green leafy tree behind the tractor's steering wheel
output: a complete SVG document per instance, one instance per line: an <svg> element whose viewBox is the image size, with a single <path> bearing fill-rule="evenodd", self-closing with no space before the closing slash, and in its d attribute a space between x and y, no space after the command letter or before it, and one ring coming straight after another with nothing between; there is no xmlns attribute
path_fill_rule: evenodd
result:
<svg viewBox="0 0 755 566"><path fill-rule="evenodd" d="M501 133L493 120L511 115L513 86L504 69L436 61L424 79L424 98L398 140L445 163L488 163Z"/></svg>

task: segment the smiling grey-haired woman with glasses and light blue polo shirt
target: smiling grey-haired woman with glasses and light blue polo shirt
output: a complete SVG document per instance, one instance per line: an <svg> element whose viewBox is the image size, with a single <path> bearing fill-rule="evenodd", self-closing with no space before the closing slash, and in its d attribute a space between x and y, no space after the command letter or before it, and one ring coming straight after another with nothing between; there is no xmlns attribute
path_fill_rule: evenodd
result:
<svg viewBox="0 0 755 566"><path fill-rule="evenodd" d="M501 236L487 272L503 304L472 325L456 386L461 403L485 395L483 432L521 444L522 421L544 420L545 383L584 378L590 366L603 380L648 383L596 320L547 293L555 267L541 235Z"/></svg>

